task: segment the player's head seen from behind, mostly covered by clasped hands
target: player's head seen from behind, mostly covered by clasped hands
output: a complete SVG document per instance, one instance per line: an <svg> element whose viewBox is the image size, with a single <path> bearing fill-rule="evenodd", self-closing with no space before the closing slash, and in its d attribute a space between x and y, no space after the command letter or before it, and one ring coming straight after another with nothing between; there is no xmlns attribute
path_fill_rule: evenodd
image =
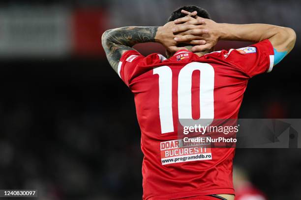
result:
<svg viewBox="0 0 301 200"><path fill-rule="evenodd" d="M197 16L202 17L202 18L206 18L206 19L211 19L211 17L209 15L209 13L207 12L207 10L205 10L203 8L200 8L198 6L195 6L195 5L188 5L188 6L183 6L179 9L175 10L174 12L172 12L170 17L168 18L168 22L172 22L172 21L175 21L179 18L185 17L186 15L181 12L182 10L188 11L190 13L192 13L194 11L197 11ZM190 44L179 44L178 45L178 47L185 47L188 50L190 50L192 46L193 45L190 45ZM207 52L205 52L205 53L207 53ZM173 55L173 53L166 51L166 55L168 57L170 57L170 56Z"/></svg>

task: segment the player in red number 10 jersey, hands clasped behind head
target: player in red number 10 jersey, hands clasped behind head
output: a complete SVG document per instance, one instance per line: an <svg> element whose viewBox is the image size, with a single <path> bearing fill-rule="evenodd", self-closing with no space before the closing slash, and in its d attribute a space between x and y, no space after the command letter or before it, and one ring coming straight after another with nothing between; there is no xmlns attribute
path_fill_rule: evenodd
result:
<svg viewBox="0 0 301 200"><path fill-rule="evenodd" d="M275 25L218 24L196 6L174 11L168 21L102 35L109 63L134 94L144 153L143 199L234 200L235 149L179 147L179 119L237 119L248 80L271 72L294 47L296 34ZM212 52L218 40L254 44ZM168 58L132 48L146 42L162 44Z"/></svg>

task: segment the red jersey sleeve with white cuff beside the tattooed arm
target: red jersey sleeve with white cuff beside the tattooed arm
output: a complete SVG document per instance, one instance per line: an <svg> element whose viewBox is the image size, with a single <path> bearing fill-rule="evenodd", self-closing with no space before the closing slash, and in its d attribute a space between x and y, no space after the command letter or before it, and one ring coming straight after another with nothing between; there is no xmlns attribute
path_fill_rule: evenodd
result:
<svg viewBox="0 0 301 200"><path fill-rule="evenodd" d="M138 63L143 61L145 57L136 50L128 50L120 58L118 65L118 75L123 82L129 86L129 81L137 68Z"/></svg>

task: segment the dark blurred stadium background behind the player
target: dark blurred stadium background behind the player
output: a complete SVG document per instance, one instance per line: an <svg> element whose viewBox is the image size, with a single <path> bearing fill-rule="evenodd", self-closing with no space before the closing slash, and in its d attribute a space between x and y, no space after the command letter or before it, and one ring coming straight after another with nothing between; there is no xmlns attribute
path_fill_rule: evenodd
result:
<svg viewBox="0 0 301 200"><path fill-rule="evenodd" d="M0 189L38 189L39 200L141 199L133 96L100 37L119 26L163 25L187 4L220 23L301 32L297 0L0 1ZM245 45L220 42L217 50ZM155 44L137 48L164 53ZM240 118L300 118L300 50L297 38L271 74L249 81ZM269 199L301 198L301 150L238 149L235 164Z"/></svg>

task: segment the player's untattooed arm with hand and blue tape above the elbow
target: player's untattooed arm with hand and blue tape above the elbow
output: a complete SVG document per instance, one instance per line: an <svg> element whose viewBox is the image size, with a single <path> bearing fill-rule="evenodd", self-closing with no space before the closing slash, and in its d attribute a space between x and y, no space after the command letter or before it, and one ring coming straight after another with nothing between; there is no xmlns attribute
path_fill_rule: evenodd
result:
<svg viewBox="0 0 301 200"><path fill-rule="evenodd" d="M175 38L177 42L190 41L193 43L191 40L193 40L195 36L202 36L202 38L206 40L205 45L195 46L192 48L193 51L210 49L218 40L235 40L257 43L262 40L269 39L274 48L274 64L280 62L280 60L293 49L296 42L296 33L293 29L276 25L219 24L212 20L203 19L197 16L196 19L192 17L184 17L176 20L175 23L179 25L177 25L177 27L173 30L174 33L182 32L182 36ZM202 29L209 30L209 33L201 35L199 31Z"/></svg>

